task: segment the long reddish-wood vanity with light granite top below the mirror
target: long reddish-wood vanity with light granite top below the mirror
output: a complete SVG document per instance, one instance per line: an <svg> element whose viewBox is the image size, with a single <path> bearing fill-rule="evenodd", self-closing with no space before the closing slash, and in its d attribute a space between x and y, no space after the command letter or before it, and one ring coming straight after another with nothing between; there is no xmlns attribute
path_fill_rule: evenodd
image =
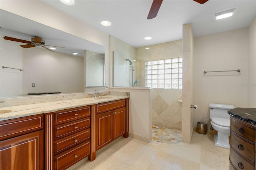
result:
<svg viewBox="0 0 256 170"><path fill-rule="evenodd" d="M95 160L96 150L129 134L129 97L110 95L4 109L0 166L6 170L66 169L87 156Z"/></svg>

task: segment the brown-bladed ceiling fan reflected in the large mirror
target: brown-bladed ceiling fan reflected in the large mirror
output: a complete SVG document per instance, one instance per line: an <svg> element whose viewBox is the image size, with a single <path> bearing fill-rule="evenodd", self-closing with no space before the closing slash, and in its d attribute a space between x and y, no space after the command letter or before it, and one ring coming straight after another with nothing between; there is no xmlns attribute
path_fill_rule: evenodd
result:
<svg viewBox="0 0 256 170"><path fill-rule="evenodd" d="M12 38L12 37L4 37L4 40L10 40L10 41L14 41L14 42L21 42L21 43L27 43L25 45L20 45L23 48L30 48L30 47L44 47L44 46L51 46L51 47L58 47L58 46L53 46L53 45L45 45L45 41L38 36L35 36L34 38L31 38L31 41L27 41L27 40L20 40L17 38ZM49 51L52 51L51 49L44 47L45 49L48 49ZM64 48L64 47L60 47L60 48ZM54 51L52 51L54 52Z"/></svg>

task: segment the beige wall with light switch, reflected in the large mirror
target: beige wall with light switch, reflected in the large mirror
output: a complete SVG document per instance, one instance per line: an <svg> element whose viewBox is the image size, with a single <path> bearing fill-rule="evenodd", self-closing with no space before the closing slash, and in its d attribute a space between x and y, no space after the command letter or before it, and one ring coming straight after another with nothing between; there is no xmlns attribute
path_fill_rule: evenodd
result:
<svg viewBox="0 0 256 170"><path fill-rule="evenodd" d="M55 91L84 92L83 57L52 52L40 47L22 50L22 95ZM32 87L31 83L36 86Z"/></svg>

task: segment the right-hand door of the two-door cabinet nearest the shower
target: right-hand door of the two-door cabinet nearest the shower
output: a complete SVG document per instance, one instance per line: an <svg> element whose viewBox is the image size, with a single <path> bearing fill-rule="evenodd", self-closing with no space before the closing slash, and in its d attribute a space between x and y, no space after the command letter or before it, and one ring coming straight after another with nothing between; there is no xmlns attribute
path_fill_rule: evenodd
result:
<svg viewBox="0 0 256 170"><path fill-rule="evenodd" d="M125 134L126 112L125 107L114 110L113 117L113 140Z"/></svg>

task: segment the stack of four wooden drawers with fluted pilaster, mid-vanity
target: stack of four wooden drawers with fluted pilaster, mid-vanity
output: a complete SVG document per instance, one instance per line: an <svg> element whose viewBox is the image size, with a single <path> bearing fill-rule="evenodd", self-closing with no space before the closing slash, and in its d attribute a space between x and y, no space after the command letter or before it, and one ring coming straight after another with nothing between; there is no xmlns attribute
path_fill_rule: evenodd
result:
<svg viewBox="0 0 256 170"><path fill-rule="evenodd" d="M90 106L45 115L46 169L64 170L90 155Z"/></svg>

